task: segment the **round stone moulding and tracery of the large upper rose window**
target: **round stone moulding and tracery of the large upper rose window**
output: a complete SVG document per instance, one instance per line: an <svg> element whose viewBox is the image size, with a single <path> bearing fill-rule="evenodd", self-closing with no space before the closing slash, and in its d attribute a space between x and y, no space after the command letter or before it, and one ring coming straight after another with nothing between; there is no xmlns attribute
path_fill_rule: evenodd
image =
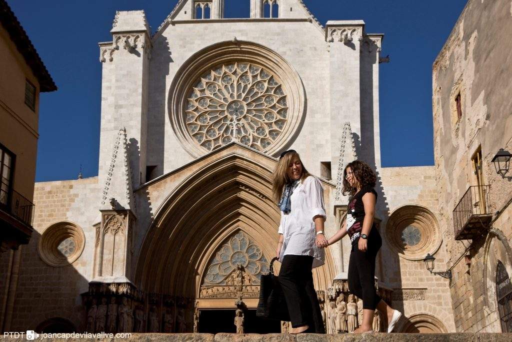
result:
<svg viewBox="0 0 512 342"><path fill-rule="evenodd" d="M252 110L263 110L265 108L268 109L268 114L272 116L272 118L270 118L270 121L267 121L266 118L263 117L257 118L253 116L252 119L250 120L251 123L246 125L247 127L253 124L261 125L262 135L258 136L258 134L255 134L254 136L256 136L257 139L263 137L265 139L265 144L256 144L252 141L252 139L249 139L250 141L247 141L247 145L252 146L252 144L254 143L254 147L258 149L261 148L262 152L272 156L277 155L280 151L282 151L286 146L290 144L290 142L298 134L298 129L300 128L300 126L302 126L304 122L306 111L306 94L304 85L302 84L301 78L298 75L298 73L290 66L288 62L285 61L283 57L281 57L278 53L274 52L273 50L267 47L251 42L230 41L215 44L210 47L204 48L199 52L195 53L193 56L191 56L188 59L188 61L185 62L183 66L178 70L178 72L176 73L176 77L173 79L173 82L169 89L167 108L169 110L168 115L170 123L173 127L173 130L176 132L176 136L180 140L181 144L185 147L185 150L190 155L196 158L209 152L211 148L208 149L205 146L202 146L201 144L203 140L200 139L201 141L198 141L197 138L194 137L196 135L196 132L198 132L199 134L199 131L191 132L189 127L187 127L187 114L185 113L186 110L190 109L192 111L189 113L189 116L190 114L192 114L191 116L195 116L193 115L193 111L195 109L187 107L190 105L190 91L193 89L197 90L198 88L204 88L204 90L197 91L197 93L194 95L199 96L198 99L201 96L212 95L216 91L210 92L208 90L208 85L211 85L212 87L215 86L216 89L219 88L217 86L226 86L226 84L223 83L224 80L222 75L225 75L226 67L233 67L233 70L235 70L238 68L237 64L246 64L248 66L253 65L257 68L262 67L266 71L263 71L263 69L261 69L261 72L269 74L268 77L261 77L261 75L258 74L258 77L254 78L256 76L249 73L249 76L252 76L248 78L246 77L248 85L257 87L258 83L262 83L265 87L269 87L271 83L275 83L276 88L274 89L274 87L271 87L271 92L263 91L261 93L261 96L257 96L263 98L264 94L271 95L264 96L265 100L261 102L261 105L263 107L250 107L254 105L254 103L251 102L253 102L255 99L258 99L254 97L250 100L246 100L245 97L229 98L229 96L226 96L224 97L224 100L222 100L222 94L220 96L219 94L216 94L218 96L216 99L210 96L210 98L219 102L219 104L221 104L222 102L225 103L221 105L222 108L210 108L210 114L218 114L218 112L224 110L226 110L227 112L229 109L227 107L229 106L238 106L237 108L231 108L231 111L238 111L239 109L243 109L244 113L250 110L251 108ZM217 70L218 68L220 68L218 75L221 77L219 77L219 79L217 80L216 85L214 84L214 81L216 81L214 79L216 75L212 72ZM239 73L240 70L236 71L236 73ZM207 78L210 78L210 80L208 81ZM272 78L274 79L275 82L271 82ZM201 80L203 84L202 86L198 86L198 81L199 83L201 83ZM237 88L237 82L234 82L234 88ZM278 84L279 86L277 86ZM241 84L241 86L243 87L243 84ZM273 97L273 102L268 102L267 104L265 104L267 97ZM284 102L279 103L283 99ZM272 101L272 99L270 99L270 101ZM206 102L207 101L205 101L204 108L209 107L206 104ZM201 106L199 106L198 103L198 110L200 107ZM280 111L285 108L286 113L283 113L284 116L280 117ZM262 115L264 116L265 113L262 112ZM206 118L208 115L204 116L205 120L207 120ZM272 123L276 117L278 118L278 122ZM197 116L195 118L190 118L189 120L199 119L200 116ZM236 125L237 123L226 121L223 124ZM198 121L197 125L195 126L197 126L198 130L206 130L207 127L210 127L207 124L201 124L200 121ZM229 127L224 128L224 126L222 126L221 128L223 130L229 129ZM254 127L252 128L255 130ZM196 128L194 128L194 130L195 129ZM219 127L215 127L215 129L219 129ZM206 131L203 133L202 134L204 136L207 135ZM240 138L243 137L244 136ZM222 140L222 137L220 137L220 139ZM235 135L233 139L236 140L237 135ZM242 144L245 143L245 141L242 140L240 142ZM228 143L229 140L225 140L224 142L222 142L222 145L226 145Z"/></svg>

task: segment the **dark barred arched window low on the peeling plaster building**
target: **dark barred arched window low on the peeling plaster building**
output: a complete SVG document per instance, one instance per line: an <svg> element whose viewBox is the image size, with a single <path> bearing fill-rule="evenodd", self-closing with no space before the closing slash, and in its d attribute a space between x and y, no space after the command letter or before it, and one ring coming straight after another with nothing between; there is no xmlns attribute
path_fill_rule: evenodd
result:
<svg viewBox="0 0 512 342"><path fill-rule="evenodd" d="M496 299L502 332L512 332L512 283L505 266L498 261L496 269Z"/></svg>

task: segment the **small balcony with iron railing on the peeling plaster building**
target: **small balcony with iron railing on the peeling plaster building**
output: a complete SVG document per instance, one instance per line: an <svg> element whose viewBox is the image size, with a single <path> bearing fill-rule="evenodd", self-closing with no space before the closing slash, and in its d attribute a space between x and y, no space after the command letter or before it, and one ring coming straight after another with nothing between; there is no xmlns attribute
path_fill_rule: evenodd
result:
<svg viewBox="0 0 512 342"><path fill-rule="evenodd" d="M471 186L453 211L455 239L469 240L485 235L492 218L489 186Z"/></svg>

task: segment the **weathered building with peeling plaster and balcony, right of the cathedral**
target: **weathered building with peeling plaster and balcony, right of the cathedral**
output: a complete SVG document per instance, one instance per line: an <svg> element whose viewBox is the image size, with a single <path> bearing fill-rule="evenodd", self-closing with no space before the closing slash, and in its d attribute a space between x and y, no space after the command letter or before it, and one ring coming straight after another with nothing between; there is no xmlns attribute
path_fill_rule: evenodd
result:
<svg viewBox="0 0 512 342"><path fill-rule="evenodd" d="M434 153L441 227L461 332L512 331L510 2L470 0L433 67Z"/></svg>

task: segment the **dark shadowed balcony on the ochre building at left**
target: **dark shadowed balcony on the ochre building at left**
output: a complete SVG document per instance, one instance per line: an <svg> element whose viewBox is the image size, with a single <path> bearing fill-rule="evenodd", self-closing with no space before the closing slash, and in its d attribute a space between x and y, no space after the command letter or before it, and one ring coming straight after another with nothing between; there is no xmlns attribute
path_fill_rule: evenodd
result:
<svg viewBox="0 0 512 342"><path fill-rule="evenodd" d="M28 244L33 231L34 208L34 204L18 192L0 189L0 250Z"/></svg>

